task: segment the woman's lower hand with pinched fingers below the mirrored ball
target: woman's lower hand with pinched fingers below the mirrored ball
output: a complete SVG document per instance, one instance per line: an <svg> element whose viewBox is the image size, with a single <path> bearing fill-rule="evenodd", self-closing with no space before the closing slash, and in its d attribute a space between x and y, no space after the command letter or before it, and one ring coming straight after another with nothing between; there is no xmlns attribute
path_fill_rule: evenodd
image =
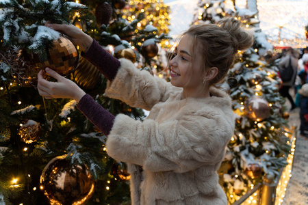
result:
<svg viewBox="0 0 308 205"><path fill-rule="evenodd" d="M50 68L45 69L46 72L57 82L51 82L44 79L46 72L40 70L38 73L38 93L46 99L51 98L72 98L79 102L79 100L86 94L76 83L62 77Z"/></svg>

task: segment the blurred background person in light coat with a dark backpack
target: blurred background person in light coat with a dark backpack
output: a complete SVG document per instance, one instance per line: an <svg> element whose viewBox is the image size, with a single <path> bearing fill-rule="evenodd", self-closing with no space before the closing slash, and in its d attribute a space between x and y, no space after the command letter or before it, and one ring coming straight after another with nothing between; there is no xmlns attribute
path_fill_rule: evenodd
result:
<svg viewBox="0 0 308 205"><path fill-rule="evenodd" d="M298 56L299 56L298 51L290 48L287 49L287 51L285 51L285 55L283 55L283 57L281 57L281 60L279 61L279 66L283 68L289 65L291 59L292 68L294 70L292 79L290 81L283 82L281 88L279 89L279 93L281 94L281 96L287 98L290 101L291 110L296 108L294 100L290 95L290 88L294 86L294 82L296 79L297 68L298 68Z"/></svg>

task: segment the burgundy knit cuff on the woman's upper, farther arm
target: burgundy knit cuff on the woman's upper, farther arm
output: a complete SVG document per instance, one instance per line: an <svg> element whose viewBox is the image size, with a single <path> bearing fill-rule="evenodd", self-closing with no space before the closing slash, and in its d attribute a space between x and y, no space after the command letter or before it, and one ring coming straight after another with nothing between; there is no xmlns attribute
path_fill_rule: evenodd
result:
<svg viewBox="0 0 308 205"><path fill-rule="evenodd" d="M93 39L88 52L81 52L81 56L96 66L108 80L112 81L116 77L120 68L120 61L105 51L96 40Z"/></svg>

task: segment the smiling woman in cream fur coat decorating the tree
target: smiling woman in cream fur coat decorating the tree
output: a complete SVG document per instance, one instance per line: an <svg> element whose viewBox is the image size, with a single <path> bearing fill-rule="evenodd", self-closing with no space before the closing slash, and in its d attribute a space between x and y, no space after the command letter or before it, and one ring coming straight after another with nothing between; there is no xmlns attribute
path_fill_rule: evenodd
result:
<svg viewBox="0 0 308 205"><path fill-rule="evenodd" d="M53 70L46 69L57 82L44 80L44 71L38 74L40 95L79 102L77 107L107 135L107 153L128 164L132 204L227 204L216 171L233 135L234 117L231 98L215 85L224 81L238 50L253 43L238 20L194 25L183 33L169 62L170 83L127 59L115 59L72 25L47 26L70 36L109 79L107 96L150 110L144 122L115 117Z"/></svg>

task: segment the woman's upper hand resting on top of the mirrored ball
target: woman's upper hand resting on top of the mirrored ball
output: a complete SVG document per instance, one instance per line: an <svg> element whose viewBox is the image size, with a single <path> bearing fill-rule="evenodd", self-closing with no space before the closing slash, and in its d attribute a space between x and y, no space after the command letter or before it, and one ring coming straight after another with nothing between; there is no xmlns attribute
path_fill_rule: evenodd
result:
<svg viewBox="0 0 308 205"><path fill-rule="evenodd" d="M59 31L60 33L64 33L74 44L79 45L81 51L84 51L84 53L86 53L92 45L93 39L88 36L88 34L84 33L84 31L75 27L75 25L57 24L47 21L45 26Z"/></svg>

